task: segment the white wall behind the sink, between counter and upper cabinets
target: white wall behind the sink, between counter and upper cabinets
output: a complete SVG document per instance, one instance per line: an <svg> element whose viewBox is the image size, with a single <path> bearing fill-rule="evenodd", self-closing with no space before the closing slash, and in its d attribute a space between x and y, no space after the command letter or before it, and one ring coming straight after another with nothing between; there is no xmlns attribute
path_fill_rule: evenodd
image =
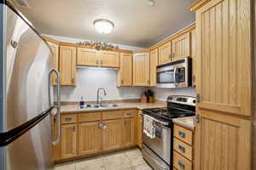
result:
<svg viewBox="0 0 256 170"><path fill-rule="evenodd" d="M96 101L97 88L106 89L107 96L103 97L104 100L139 99L145 88L117 88L116 74L116 70L107 68L78 68L77 86L61 87L61 101L79 101L82 96L85 101Z"/></svg>

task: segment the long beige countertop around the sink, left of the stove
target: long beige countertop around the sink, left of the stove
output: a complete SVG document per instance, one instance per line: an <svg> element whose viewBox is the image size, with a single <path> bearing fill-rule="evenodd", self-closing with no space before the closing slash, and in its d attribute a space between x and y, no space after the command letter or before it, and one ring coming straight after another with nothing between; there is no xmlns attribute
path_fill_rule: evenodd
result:
<svg viewBox="0 0 256 170"><path fill-rule="evenodd" d="M117 107L101 107L101 108L90 108L90 109L80 109L79 105L61 105L61 114L71 113L71 112L90 112L90 111L115 111L115 110L125 110L125 109L149 109L156 107L166 107L166 102L155 102L155 103L117 103Z"/></svg>

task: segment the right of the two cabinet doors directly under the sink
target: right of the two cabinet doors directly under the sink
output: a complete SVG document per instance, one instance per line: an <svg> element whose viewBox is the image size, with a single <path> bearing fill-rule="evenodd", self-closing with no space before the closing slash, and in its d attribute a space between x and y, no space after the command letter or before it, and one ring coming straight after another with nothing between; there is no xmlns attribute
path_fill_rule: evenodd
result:
<svg viewBox="0 0 256 170"><path fill-rule="evenodd" d="M103 150L114 150L122 147L124 123L122 119L104 121L106 128L102 130Z"/></svg>

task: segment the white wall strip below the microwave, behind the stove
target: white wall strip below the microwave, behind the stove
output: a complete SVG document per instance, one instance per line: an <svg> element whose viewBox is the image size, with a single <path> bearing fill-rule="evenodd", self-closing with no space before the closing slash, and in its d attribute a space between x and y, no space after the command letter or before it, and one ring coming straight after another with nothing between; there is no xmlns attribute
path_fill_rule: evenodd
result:
<svg viewBox="0 0 256 170"><path fill-rule="evenodd" d="M169 95L195 96L195 88L151 88L156 99L166 101Z"/></svg>

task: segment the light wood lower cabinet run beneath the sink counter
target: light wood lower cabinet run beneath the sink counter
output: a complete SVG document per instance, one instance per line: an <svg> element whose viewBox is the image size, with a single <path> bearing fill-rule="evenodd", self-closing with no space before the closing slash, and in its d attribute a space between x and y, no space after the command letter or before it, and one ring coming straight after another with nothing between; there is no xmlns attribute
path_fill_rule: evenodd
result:
<svg viewBox="0 0 256 170"><path fill-rule="evenodd" d="M53 125L56 137L56 122ZM137 110L70 113L61 116L55 161L91 156L137 145Z"/></svg>

